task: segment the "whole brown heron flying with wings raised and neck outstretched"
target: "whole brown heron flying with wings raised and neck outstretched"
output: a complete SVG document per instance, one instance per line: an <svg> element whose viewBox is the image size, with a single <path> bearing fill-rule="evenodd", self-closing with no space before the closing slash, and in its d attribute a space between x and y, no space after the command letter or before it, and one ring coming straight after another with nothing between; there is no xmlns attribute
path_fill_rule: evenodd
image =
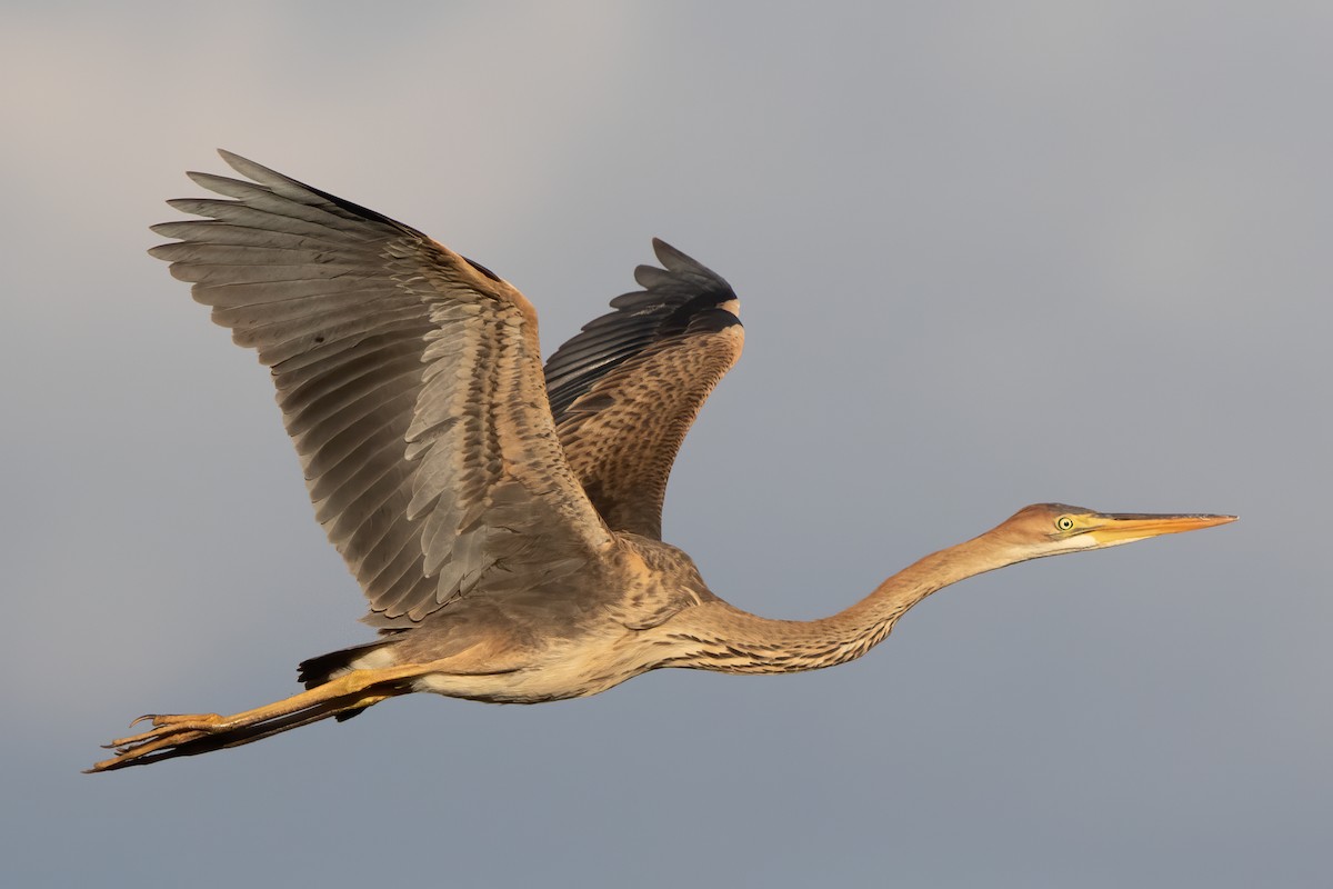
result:
<svg viewBox="0 0 1333 889"><path fill-rule="evenodd" d="M1234 520L1020 509L820 620L714 594L661 540L678 448L741 355L732 287L655 240L641 289L543 367L537 313L421 232L229 152L220 197L168 201L149 252L193 285L277 389L315 514L369 602L375 641L303 661L305 690L235 714L148 714L89 772L249 744L429 692L536 704L647 670L790 673L882 641L926 596L1030 558Z"/></svg>

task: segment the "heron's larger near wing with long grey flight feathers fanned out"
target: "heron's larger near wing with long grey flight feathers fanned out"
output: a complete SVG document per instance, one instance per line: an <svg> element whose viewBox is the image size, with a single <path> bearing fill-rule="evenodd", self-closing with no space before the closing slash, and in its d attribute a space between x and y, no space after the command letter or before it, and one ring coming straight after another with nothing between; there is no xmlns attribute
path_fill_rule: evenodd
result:
<svg viewBox="0 0 1333 889"><path fill-rule="evenodd" d="M452 598L540 585L611 534L561 452L537 319L425 235L220 152L253 181L151 251L272 368L315 513L371 601L409 626Z"/></svg>

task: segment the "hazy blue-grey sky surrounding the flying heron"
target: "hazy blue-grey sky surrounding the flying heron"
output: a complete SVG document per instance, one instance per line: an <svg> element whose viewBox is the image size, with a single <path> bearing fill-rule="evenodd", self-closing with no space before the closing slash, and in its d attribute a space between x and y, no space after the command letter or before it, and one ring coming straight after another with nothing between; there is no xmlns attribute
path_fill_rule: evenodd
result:
<svg viewBox="0 0 1333 889"><path fill-rule="evenodd" d="M5 885L1322 885L1328 4L275 7L0 13ZM1034 501L1242 521L968 581L834 670L81 776L369 638L267 372L144 255L215 145L492 267L548 353L655 235L722 273L746 355L666 537L750 610Z"/></svg>

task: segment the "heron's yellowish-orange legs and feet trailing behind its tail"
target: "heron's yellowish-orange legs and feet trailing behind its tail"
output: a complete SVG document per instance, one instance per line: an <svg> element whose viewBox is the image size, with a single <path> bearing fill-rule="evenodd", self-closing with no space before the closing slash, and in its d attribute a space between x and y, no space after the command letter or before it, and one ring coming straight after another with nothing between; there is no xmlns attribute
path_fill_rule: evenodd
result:
<svg viewBox="0 0 1333 889"><path fill-rule="evenodd" d="M345 710L379 704L395 694L404 694L411 690L405 680L421 676L424 672L420 664L352 670L308 692L232 716L217 713L140 716L131 722L131 728L144 720L152 720L152 728L105 745L116 750L116 756L97 762L88 772L109 772L129 765L249 744Z"/></svg>

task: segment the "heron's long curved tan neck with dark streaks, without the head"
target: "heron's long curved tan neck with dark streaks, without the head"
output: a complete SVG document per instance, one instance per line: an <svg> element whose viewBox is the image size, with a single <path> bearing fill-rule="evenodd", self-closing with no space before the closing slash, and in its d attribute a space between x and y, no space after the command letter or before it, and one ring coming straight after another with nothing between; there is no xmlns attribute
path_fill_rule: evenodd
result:
<svg viewBox="0 0 1333 889"><path fill-rule="evenodd" d="M997 546L990 534L982 534L930 553L850 608L813 621L772 620L720 600L705 602L659 628L673 649L661 665L722 673L796 673L845 664L884 641L893 624L930 593L1030 557L1012 546Z"/></svg>

